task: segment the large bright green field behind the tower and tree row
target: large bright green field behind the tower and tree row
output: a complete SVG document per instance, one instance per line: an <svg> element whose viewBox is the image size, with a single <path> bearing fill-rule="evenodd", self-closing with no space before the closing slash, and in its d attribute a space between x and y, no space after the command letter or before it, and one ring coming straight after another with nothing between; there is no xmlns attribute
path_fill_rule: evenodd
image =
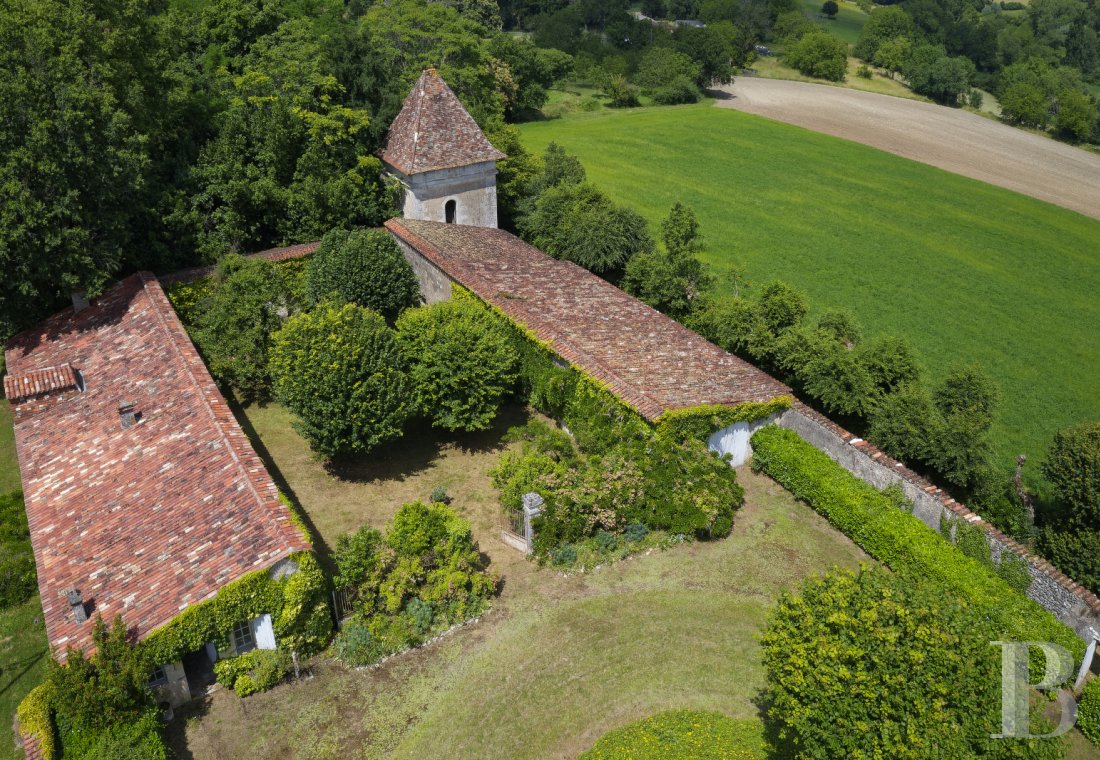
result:
<svg viewBox="0 0 1100 760"><path fill-rule="evenodd" d="M909 335L933 377L981 363L1003 390L999 464L1100 417L1100 221L856 143L710 104L532 122L656 230L695 209L719 274L744 266ZM1031 470L1034 476L1035 470Z"/></svg>

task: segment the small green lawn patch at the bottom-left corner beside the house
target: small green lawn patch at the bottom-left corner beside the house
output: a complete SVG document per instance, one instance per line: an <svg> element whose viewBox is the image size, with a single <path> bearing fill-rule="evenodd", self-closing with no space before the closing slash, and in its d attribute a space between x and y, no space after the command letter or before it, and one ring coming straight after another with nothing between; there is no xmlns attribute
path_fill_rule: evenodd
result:
<svg viewBox="0 0 1100 760"><path fill-rule="evenodd" d="M48 658L37 594L0 612L0 760L23 757L15 750L12 718L26 693L42 681Z"/></svg>

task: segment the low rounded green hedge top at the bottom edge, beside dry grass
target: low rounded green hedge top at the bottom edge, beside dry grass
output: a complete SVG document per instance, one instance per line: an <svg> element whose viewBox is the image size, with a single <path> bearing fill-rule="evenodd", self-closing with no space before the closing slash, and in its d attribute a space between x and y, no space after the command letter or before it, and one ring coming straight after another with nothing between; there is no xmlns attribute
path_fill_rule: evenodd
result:
<svg viewBox="0 0 1100 760"><path fill-rule="evenodd" d="M766 746L756 718L673 709L604 734L580 760L762 760Z"/></svg>

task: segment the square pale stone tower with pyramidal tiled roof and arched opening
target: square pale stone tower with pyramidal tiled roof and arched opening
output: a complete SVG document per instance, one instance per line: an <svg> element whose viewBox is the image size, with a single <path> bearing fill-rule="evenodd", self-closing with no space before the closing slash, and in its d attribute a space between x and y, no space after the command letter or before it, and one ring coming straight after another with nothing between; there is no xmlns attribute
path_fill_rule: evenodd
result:
<svg viewBox="0 0 1100 760"><path fill-rule="evenodd" d="M433 68L417 79L382 151L405 189L406 219L474 227L496 227L496 162L506 157Z"/></svg>

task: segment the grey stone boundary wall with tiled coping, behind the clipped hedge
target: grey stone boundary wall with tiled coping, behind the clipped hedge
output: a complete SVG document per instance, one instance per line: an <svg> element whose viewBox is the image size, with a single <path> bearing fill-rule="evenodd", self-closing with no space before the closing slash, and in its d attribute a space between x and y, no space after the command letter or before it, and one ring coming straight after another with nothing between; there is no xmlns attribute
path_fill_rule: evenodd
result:
<svg viewBox="0 0 1100 760"><path fill-rule="evenodd" d="M943 489L801 401L784 411L777 423L793 430L876 488L900 485L905 497L913 503L913 515L933 530L938 531L941 521L950 517L959 517L980 527L994 560L999 561L1002 552L1011 551L1027 561L1027 571L1032 576L1027 596L1086 641L1100 639L1100 598L1096 594L1075 583L1043 558L1028 553L1026 547L982 520Z"/></svg>

